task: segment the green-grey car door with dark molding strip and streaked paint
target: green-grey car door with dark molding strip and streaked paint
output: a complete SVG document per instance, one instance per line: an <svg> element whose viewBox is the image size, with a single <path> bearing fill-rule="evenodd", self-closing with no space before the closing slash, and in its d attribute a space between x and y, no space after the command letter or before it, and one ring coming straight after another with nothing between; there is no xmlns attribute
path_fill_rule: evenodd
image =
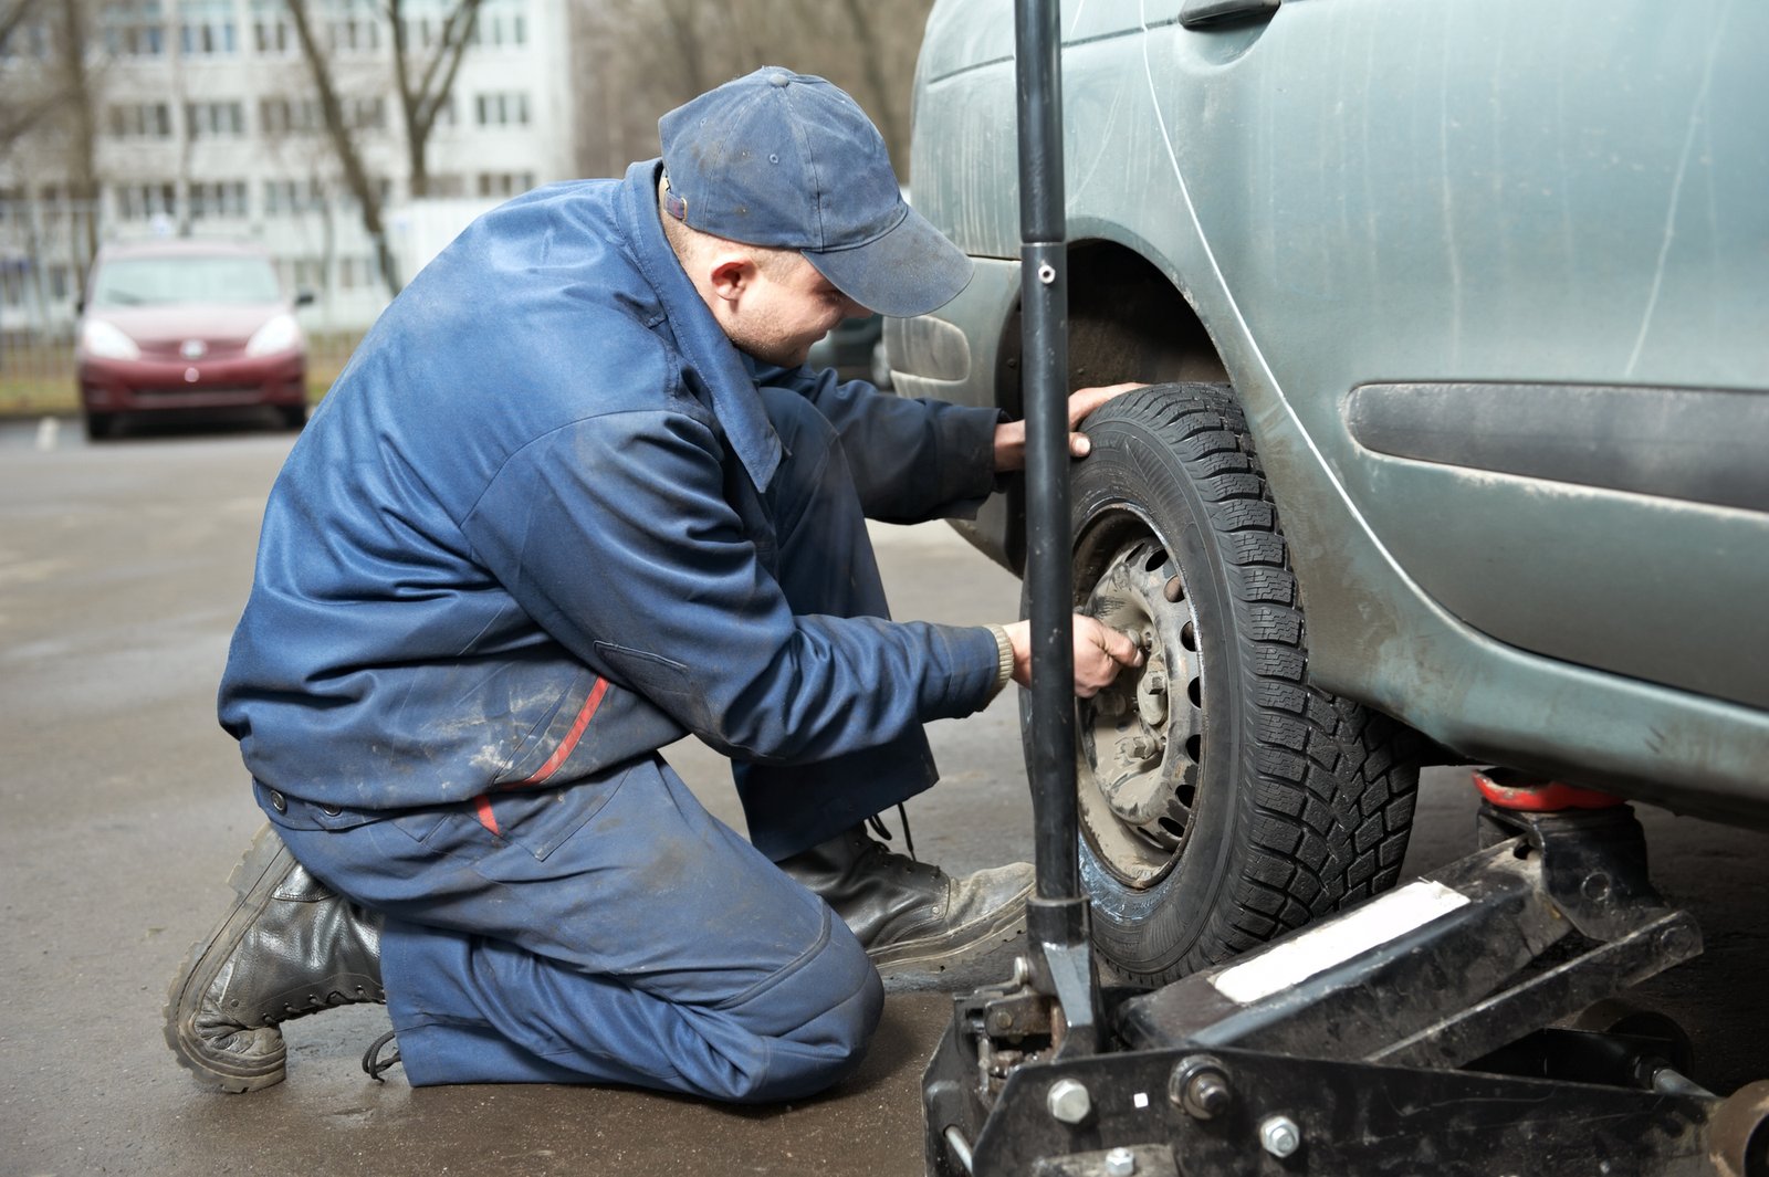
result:
<svg viewBox="0 0 1769 1177"><path fill-rule="evenodd" d="M1286 0L1238 35L1157 101L1385 553L1502 642L1769 707L1769 7Z"/></svg>

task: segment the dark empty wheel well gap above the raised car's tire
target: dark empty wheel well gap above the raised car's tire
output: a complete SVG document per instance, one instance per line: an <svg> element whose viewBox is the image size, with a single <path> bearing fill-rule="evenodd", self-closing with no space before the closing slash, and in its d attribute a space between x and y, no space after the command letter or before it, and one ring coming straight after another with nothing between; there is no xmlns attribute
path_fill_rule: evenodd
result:
<svg viewBox="0 0 1769 1177"><path fill-rule="evenodd" d="M1001 339L996 387L1015 417L1021 403L1021 318ZM1143 380L1228 380L1205 325L1168 276L1116 242L1068 247L1068 387Z"/></svg>

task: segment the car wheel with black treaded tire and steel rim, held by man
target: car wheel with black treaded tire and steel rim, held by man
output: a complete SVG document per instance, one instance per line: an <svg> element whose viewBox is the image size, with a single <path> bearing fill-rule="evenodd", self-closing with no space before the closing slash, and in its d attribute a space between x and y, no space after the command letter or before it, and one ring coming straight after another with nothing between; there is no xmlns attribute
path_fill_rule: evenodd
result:
<svg viewBox="0 0 1769 1177"><path fill-rule="evenodd" d="M1302 604L1228 385L1125 394L1074 467L1076 610L1148 659L1077 702L1093 938L1159 984L1394 885L1410 730L1309 684Z"/></svg>

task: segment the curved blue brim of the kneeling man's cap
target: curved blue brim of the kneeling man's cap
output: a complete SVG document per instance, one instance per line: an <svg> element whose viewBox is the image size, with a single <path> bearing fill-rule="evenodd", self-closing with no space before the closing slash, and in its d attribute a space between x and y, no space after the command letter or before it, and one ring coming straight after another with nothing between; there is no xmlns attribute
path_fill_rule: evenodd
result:
<svg viewBox="0 0 1769 1177"><path fill-rule="evenodd" d="M971 281L971 260L927 217L904 207L902 221L863 246L801 251L844 295L879 315L913 318L959 297Z"/></svg>

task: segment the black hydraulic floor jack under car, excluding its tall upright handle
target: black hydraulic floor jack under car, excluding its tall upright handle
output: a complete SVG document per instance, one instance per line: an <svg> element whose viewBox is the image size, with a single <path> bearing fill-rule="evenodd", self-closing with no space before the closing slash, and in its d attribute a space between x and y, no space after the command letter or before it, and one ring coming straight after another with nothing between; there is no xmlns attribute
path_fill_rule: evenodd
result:
<svg viewBox="0 0 1769 1177"><path fill-rule="evenodd" d="M959 999L929 1173L1769 1175L1769 1082L1716 1097L1673 1023L1599 1002L1700 953L1631 808L1475 776L1482 850L1229 965Z"/></svg>

